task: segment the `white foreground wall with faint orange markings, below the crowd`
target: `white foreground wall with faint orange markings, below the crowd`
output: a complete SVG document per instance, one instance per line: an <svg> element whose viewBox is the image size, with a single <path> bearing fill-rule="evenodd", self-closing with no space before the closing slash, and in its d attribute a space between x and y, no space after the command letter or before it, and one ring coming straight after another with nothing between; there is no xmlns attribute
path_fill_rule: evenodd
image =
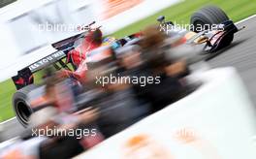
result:
<svg viewBox="0 0 256 159"><path fill-rule="evenodd" d="M235 69L190 79L204 84L76 158L256 158L256 110Z"/></svg>

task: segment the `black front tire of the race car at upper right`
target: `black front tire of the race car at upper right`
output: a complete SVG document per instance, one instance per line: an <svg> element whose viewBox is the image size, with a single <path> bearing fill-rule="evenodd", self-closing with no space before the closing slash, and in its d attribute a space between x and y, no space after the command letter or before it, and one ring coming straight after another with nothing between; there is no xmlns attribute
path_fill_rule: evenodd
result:
<svg viewBox="0 0 256 159"><path fill-rule="evenodd" d="M216 6L207 6L200 9L191 16L190 24L193 25L191 30L198 33L200 32L200 25L203 25L206 29L208 29L206 24L210 26L212 24L219 24L226 20L229 20L229 17L220 8Z"/></svg>

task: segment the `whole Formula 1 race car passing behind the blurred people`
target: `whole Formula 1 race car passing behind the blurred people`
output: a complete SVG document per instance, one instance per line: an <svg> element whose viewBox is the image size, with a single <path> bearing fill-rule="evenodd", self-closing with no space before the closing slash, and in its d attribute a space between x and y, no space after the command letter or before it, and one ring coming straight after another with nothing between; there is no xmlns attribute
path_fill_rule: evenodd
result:
<svg viewBox="0 0 256 159"><path fill-rule="evenodd" d="M228 16L226 16L222 10L212 6L203 8L191 16L193 31L177 28L173 22L166 22L164 16L160 16L158 21L160 22L159 29L161 30L162 28L161 31L166 32L168 36L170 36L171 41L176 41L176 43L172 42L171 47L181 45L200 46L202 47L202 50L207 53L215 52L220 48L224 48L230 45L233 41L234 34L240 30L231 20L229 20ZM100 58L99 56L102 55L99 55L99 52L103 51L92 50L86 55L90 58L81 61L79 66L73 59L69 58L71 50L76 48L78 43L80 44L81 39L84 39L91 31L90 26L93 23L95 22L92 22L85 27L88 28L86 32L52 44L51 46L56 49L55 52L52 52L43 59L40 59L21 69L17 72L17 75L12 78L16 84L17 89L13 96L13 107L14 111L16 112L17 120L24 127L28 125L28 118L31 113L40 109L39 107L33 108L31 106L30 102L28 101L28 96L31 98L31 92L34 90L38 90L37 94L44 94L45 89L44 85L42 86L34 84L34 73L45 69L48 66L53 66L56 71L62 71L65 69L64 73L67 73L73 79L80 80L83 77L80 76L80 72L83 72L87 69L87 60L92 59L91 56ZM210 29L213 24L216 24L216 27L212 27L212 29ZM205 30L198 32L198 28L201 25L205 26ZM166 30L170 29L171 26L171 30ZM141 39L143 39L143 35L141 33L135 33L122 39L113 40L108 46L111 48L118 48L126 45L133 45L138 43L138 41ZM102 47L98 47L95 49L101 48ZM64 61L64 59L66 59L66 61ZM82 106L83 102L84 99L78 101L77 104Z"/></svg>

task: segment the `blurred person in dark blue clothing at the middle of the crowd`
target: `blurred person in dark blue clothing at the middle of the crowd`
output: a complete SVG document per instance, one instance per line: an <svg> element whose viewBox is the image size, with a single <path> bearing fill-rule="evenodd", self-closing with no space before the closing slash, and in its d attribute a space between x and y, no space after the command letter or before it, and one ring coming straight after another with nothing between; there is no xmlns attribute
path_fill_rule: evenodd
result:
<svg viewBox="0 0 256 159"><path fill-rule="evenodd" d="M91 98L87 105L98 108L100 111L97 124L106 138L124 130L137 122L146 114L146 107L142 107L134 97L130 84L111 83L105 86L96 83L96 77L109 77L116 75L116 60L111 57L97 62L88 63L88 78L84 87L87 99ZM86 97L85 97L86 98Z"/></svg>

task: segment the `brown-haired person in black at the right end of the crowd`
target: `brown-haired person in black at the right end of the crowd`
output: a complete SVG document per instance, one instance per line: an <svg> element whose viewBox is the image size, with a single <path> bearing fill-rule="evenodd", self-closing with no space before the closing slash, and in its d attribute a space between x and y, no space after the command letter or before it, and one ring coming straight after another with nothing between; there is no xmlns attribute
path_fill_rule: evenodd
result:
<svg viewBox="0 0 256 159"><path fill-rule="evenodd" d="M157 26L149 26L143 33L144 39L140 44L144 59L142 72L146 70L149 76L160 76L161 82L137 87L137 92L142 92L141 96L151 104L154 112L187 94L186 83L181 83L179 80L179 76L186 72L187 67L183 60L173 61L166 58L165 49L162 48L166 36L157 29Z"/></svg>

